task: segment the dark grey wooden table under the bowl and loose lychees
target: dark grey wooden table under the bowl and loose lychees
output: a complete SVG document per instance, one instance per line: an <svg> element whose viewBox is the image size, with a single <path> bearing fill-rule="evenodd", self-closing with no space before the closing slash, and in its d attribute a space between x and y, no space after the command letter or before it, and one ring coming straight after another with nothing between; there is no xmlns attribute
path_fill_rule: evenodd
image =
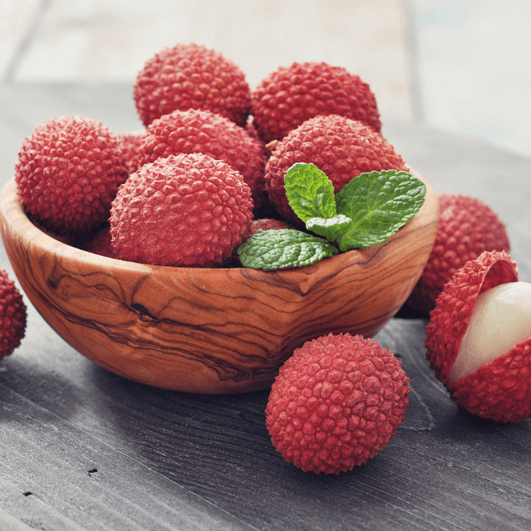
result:
<svg viewBox="0 0 531 531"><path fill-rule="evenodd" d="M33 128L61 114L135 130L128 86L0 88L2 186ZM531 281L531 160L412 123L383 133L436 192L477 196L507 225ZM0 267L11 272L4 252ZM286 463L265 426L267 392L201 396L108 373L28 304L27 335L0 363L0 528L529 529L531 420L458 410L424 357L427 319L375 337L403 361L410 406L387 449L338 476Z"/></svg>

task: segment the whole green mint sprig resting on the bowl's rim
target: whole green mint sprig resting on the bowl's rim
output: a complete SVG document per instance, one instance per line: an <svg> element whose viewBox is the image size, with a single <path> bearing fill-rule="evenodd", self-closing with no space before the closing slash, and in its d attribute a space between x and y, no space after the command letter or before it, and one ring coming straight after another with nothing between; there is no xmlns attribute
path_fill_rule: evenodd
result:
<svg viewBox="0 0 531 531"><path fill-rule="evenodd" d="M296 163L284 178L289 205L306 229L267 230L238 249L254 269L309 266L342 251L386 242L419 212L426 185L411 173L361 173L334 195L334 184L316 165Z"/></svg>

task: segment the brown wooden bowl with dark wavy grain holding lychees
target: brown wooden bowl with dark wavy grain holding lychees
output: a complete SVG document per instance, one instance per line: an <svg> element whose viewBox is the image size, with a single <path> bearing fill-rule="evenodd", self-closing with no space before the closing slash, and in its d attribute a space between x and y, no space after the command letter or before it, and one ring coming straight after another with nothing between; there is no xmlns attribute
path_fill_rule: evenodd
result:
<svg viewBox="0 0 531 531"><path fill-rule="evenodd" d="M27 219L14 181L0 209L19 283L66 342L113 373L195 393L266 389L304 342L374 335L418 281L439 212L427 185L420 211L387 242L264 272L146 266L75 249Z"/></svg>

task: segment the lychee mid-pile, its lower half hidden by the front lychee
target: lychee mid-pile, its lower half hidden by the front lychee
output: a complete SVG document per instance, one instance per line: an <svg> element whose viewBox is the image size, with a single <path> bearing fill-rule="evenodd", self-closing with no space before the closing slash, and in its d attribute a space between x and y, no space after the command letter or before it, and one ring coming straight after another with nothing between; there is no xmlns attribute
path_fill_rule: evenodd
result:
<svg viewBox="0 0 531 531"><path fill-rule="evenodd" d="M179 153L204 153L222 160L249 185L253 198L265 193L266 157L244 128L210 111L174 111L154 120L139 150L140 165Z"/></svg>

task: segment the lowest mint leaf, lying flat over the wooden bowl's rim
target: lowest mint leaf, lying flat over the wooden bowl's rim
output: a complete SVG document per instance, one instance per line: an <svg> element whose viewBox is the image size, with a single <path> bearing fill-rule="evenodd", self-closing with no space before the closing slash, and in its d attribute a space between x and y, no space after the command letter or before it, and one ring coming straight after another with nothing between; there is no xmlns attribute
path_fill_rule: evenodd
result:
<svg viewBox="0 0 531 531"><path fill-rule="evenodd" d="M310 266L336 253L326 240L293 228L258 232L238 248L242 266L265 271Z"/></svg>

